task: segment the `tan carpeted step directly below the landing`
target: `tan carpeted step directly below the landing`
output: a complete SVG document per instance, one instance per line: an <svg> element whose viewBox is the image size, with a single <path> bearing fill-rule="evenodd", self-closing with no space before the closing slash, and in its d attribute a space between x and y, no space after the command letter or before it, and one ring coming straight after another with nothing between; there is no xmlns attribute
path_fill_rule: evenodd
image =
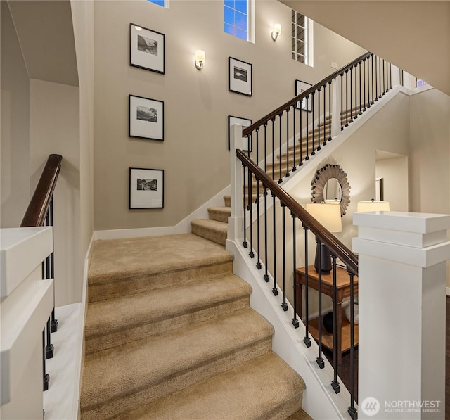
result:
<svg viewBox="0 0 450 420"><path fill-rule="evenodd" d="M252 288L233 274L89 303L86 355L244 309Z"/></svg>

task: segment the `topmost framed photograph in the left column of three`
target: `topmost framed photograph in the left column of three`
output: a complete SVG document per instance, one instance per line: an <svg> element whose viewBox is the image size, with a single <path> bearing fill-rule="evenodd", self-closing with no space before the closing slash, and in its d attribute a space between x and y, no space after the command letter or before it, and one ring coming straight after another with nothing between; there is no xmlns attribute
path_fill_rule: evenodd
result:
<svg viewBox="0 0 450 420"><path fill-rule="evenodd" d="M129 24L129 64L164 74L164 34Z"/></svg>

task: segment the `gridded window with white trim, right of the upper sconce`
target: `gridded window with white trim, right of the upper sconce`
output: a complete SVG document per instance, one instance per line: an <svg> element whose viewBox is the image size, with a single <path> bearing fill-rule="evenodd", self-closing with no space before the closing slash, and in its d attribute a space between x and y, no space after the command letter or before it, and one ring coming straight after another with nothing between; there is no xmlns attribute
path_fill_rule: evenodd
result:
<svg viewBox="0 0 450 420"><path fill-rule="evenodd" d="M292 11L292 56L293 60L312 65L312 20L295 10Z"/></svg>

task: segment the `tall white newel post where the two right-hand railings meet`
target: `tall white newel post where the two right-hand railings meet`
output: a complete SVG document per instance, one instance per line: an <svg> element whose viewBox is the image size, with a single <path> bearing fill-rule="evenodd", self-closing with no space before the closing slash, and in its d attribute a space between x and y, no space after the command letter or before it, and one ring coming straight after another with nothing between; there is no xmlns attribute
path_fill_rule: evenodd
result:
<svg viewBox="0 0 450 420"><path fill-rule="evenodd" d="M243 238L243 166L236 158L236 149L243 148L242 125L232 125L230 129L230 177L231 177L231 217L228 222L228 238Z"/></svg>

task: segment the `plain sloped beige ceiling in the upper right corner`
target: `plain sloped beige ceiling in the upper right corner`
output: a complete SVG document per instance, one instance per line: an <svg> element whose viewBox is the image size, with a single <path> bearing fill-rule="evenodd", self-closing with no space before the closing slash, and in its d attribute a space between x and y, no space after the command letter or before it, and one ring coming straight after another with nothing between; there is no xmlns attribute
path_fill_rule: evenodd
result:
<svg viewBox="0 0 450 420"><path fill-rule="evenodd" d="M450 95L450 1L279 1Z"/></svg>

